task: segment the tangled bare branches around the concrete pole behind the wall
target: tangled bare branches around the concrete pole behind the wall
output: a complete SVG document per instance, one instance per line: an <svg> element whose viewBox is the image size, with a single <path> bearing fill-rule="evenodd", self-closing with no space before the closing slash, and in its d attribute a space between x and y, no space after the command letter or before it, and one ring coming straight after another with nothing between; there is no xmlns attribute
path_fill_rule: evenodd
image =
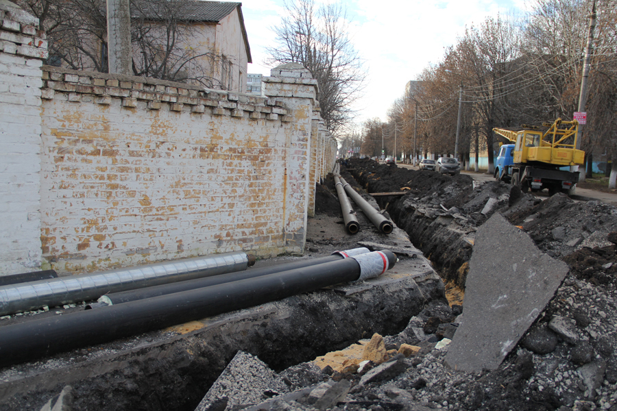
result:
<svg viewBox="0 0 617 411"><path fill-rule="evenodd" d="M49 41L47 64L108 71L106 0L15 0L39 19ZM190 0L130 0L134 75L223 88L213 51L190 47ZM231 64L233 64L231 62ZM219 71L217 71L219 70ZM222 69L221 69L222 70Z"/></svg>

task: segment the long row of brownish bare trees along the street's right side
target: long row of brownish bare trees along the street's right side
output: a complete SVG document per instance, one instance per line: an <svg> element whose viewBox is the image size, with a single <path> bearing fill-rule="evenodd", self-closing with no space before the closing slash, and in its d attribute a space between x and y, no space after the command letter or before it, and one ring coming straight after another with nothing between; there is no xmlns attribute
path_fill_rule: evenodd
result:
<svg viewBox="0 0 617 411"><path fill-rule="evenodd" d="M439 64L389 110L381 124L385 135L398 134L398 153L439 153L455 150L459 93L462 87L459 153L487 150L492 171L494 127L540 125L561 117L572 119L579 103L583 58L590 13L597 19L586 104L588 123L581 126L588 163L613 159L617 175L617 0L537 0L523 18L487 18L470 27L446 49ZM417 121L417 127L414 122ZM363 125L364 144L375 150L375 120ZM414 138L415 136L415 138ZM387 140L391 153L393 141ZM380 152L380 148L379 148ZM597 158L601 155L601 158ZM477 158L477 157L476 157Z"/></svg>

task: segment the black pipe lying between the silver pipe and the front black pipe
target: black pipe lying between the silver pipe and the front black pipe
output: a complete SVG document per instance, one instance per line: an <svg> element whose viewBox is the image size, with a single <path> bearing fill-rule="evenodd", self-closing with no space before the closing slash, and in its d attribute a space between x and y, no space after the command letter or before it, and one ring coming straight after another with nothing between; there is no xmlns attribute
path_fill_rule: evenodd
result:
<svg viewBox="0 0 617 411"><path fill-rule="evenodd" d="M298 260L294 262L289 262L287 264L279 264L277 266L269 266L263 267L261 269L247 270L241 273L222 274L216 275L215 277L189 279L187 281L175 282L172 284L161 284L160 286L138 288L136 290L128 290L123 292L113 292L111 294L101 296L101 298L99 298L99 303L86 306L86 310L90 308L102 308L115 304L128 303L129 301L158 297L160 295L173 294L174 292L194 290L195 288L216 286L218 284L223 284L226 282L241 281L243 279L260 277L261 275L280 273L281 271L300 269L306 266L324 264L325 262L342 260L343 258L350 258L353 256L358 256L359 254L369 252L369 249L365 247L360 247L346 251L335 251L334 253L332 253L331 256L327 257Z"/></svg>

